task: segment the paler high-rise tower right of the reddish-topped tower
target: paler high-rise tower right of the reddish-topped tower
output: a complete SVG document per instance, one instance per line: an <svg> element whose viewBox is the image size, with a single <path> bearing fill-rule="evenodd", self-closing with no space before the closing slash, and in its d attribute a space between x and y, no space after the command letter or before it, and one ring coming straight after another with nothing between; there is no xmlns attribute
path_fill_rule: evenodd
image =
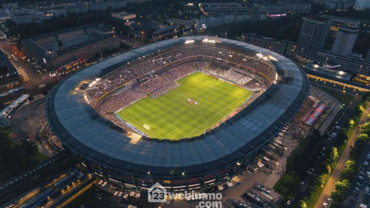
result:
<svg viewBox="0 0 370 208"><path fill-rule="evenodd" d="M359 34L358 28L341 26L335 37L332 53L335 55L347 56L352 52L354 43Z"/></svg>

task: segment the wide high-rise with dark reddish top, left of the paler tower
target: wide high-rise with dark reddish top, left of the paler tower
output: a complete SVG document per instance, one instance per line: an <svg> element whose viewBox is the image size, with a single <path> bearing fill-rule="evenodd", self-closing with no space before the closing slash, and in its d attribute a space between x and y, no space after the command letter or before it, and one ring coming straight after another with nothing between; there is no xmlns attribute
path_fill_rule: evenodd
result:
<svg viewBox="0 0 370 208"><path fill-rule="evenodd" d="M295 57L300 62L313 62L323 47L330 27L330 19L316 16L303 17Z"/></svg>

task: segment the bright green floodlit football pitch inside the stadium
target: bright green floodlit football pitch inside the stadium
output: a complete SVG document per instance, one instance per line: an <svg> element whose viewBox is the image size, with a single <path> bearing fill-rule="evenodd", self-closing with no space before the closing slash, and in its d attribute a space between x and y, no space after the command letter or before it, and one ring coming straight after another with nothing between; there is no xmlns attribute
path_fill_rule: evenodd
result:
<svg viewBox="0 0 370 208"><path fill-rule="evenodd" d="M182 139L198 136L243 104L252 94L239 86L195 72L177 80L178 88L157 99L142 98L117 112L151 138ZM198 105L188 103L195 99ZM144 123L150 130L143 127Z"/></svg>

